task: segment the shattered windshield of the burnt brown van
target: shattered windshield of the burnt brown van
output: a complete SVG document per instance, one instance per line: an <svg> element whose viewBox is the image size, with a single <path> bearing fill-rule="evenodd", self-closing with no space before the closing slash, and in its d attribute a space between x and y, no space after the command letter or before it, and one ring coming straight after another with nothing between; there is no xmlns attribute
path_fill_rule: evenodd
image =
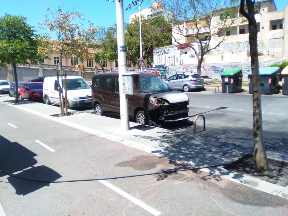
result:
<svg viewBox="0 0 288 216"><path fill-rule="evenodd" d="M168 92L171 89L159 77L140 77L140 92Z"/></svg>

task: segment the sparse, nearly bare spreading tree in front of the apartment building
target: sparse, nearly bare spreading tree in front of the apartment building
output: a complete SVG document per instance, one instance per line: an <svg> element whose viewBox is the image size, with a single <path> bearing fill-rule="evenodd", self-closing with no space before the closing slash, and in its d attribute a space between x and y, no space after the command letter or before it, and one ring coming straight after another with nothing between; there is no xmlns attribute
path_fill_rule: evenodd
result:
<svg viewBox="0 0 288 216"><path fill-rule="evenodd" d="M199 74L204 56L219 47L233 24L241 22L236 18L239 9L238 0L163 0L162 2L163 11L173 19L172 40L194 50L198 59ZM186 30L191 30L189 35ZM218 34L222 34L223 38L212 44L211 39Z"/></svg>

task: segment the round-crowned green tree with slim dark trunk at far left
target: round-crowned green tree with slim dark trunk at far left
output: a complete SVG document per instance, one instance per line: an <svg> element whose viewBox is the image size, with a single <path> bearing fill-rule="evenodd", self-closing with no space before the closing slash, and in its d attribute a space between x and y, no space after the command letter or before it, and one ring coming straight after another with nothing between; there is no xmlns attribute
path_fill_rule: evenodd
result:
<svg viewBox="0 0 288 216"><path fill-rule="evenodd" d="M38 44L32 26L23 16L5 15L0 18L0 65L12 64L15 86L18 86L16 64L40 60ZM18 103L18 88L15 88L15 102Z"/></svg>

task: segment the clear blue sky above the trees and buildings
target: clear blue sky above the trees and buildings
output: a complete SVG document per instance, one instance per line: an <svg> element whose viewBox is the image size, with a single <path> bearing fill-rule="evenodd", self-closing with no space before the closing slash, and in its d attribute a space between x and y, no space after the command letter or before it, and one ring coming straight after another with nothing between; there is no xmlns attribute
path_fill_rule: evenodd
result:
<svg viewBox="0 0 288 216"><path fill-rule="evenodd" d="M135 1L135 0L134 0ZM155 0L144 0L141 9L151 7ZM274 0L277 10L283 10L286 3L285 0ZM132 2L132 0L124 0L124 9ZM88 20L94 26L111 26L116 23L115 2L108 2L106 0L8 0L2 1L0 7L0 17L6 14L22 15L27 17L27 23L34 26L35 30L39 30L38 23L43 22L47 14L47 7L54 6L61 7L64 10L71 10L73 6L80 7L79 12L83 13L86 27L88 27ZM131 10L124 10L124 22L128 23L129 15L138 11L138 6L134 6ZM42 33L39 31L38 33Z"/></svg>

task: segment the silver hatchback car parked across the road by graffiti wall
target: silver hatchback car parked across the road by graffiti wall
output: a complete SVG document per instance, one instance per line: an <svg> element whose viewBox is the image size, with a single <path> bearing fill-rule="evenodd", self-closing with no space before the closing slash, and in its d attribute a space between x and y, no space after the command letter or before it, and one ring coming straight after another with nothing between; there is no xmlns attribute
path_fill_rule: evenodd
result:
<svg viewBox="0 0 288 216"><path fill-rule="evenodd" d="M190 89L204 89L204 79L198 73L179 73L165 80L170 89L189 92Z"/></svg>

